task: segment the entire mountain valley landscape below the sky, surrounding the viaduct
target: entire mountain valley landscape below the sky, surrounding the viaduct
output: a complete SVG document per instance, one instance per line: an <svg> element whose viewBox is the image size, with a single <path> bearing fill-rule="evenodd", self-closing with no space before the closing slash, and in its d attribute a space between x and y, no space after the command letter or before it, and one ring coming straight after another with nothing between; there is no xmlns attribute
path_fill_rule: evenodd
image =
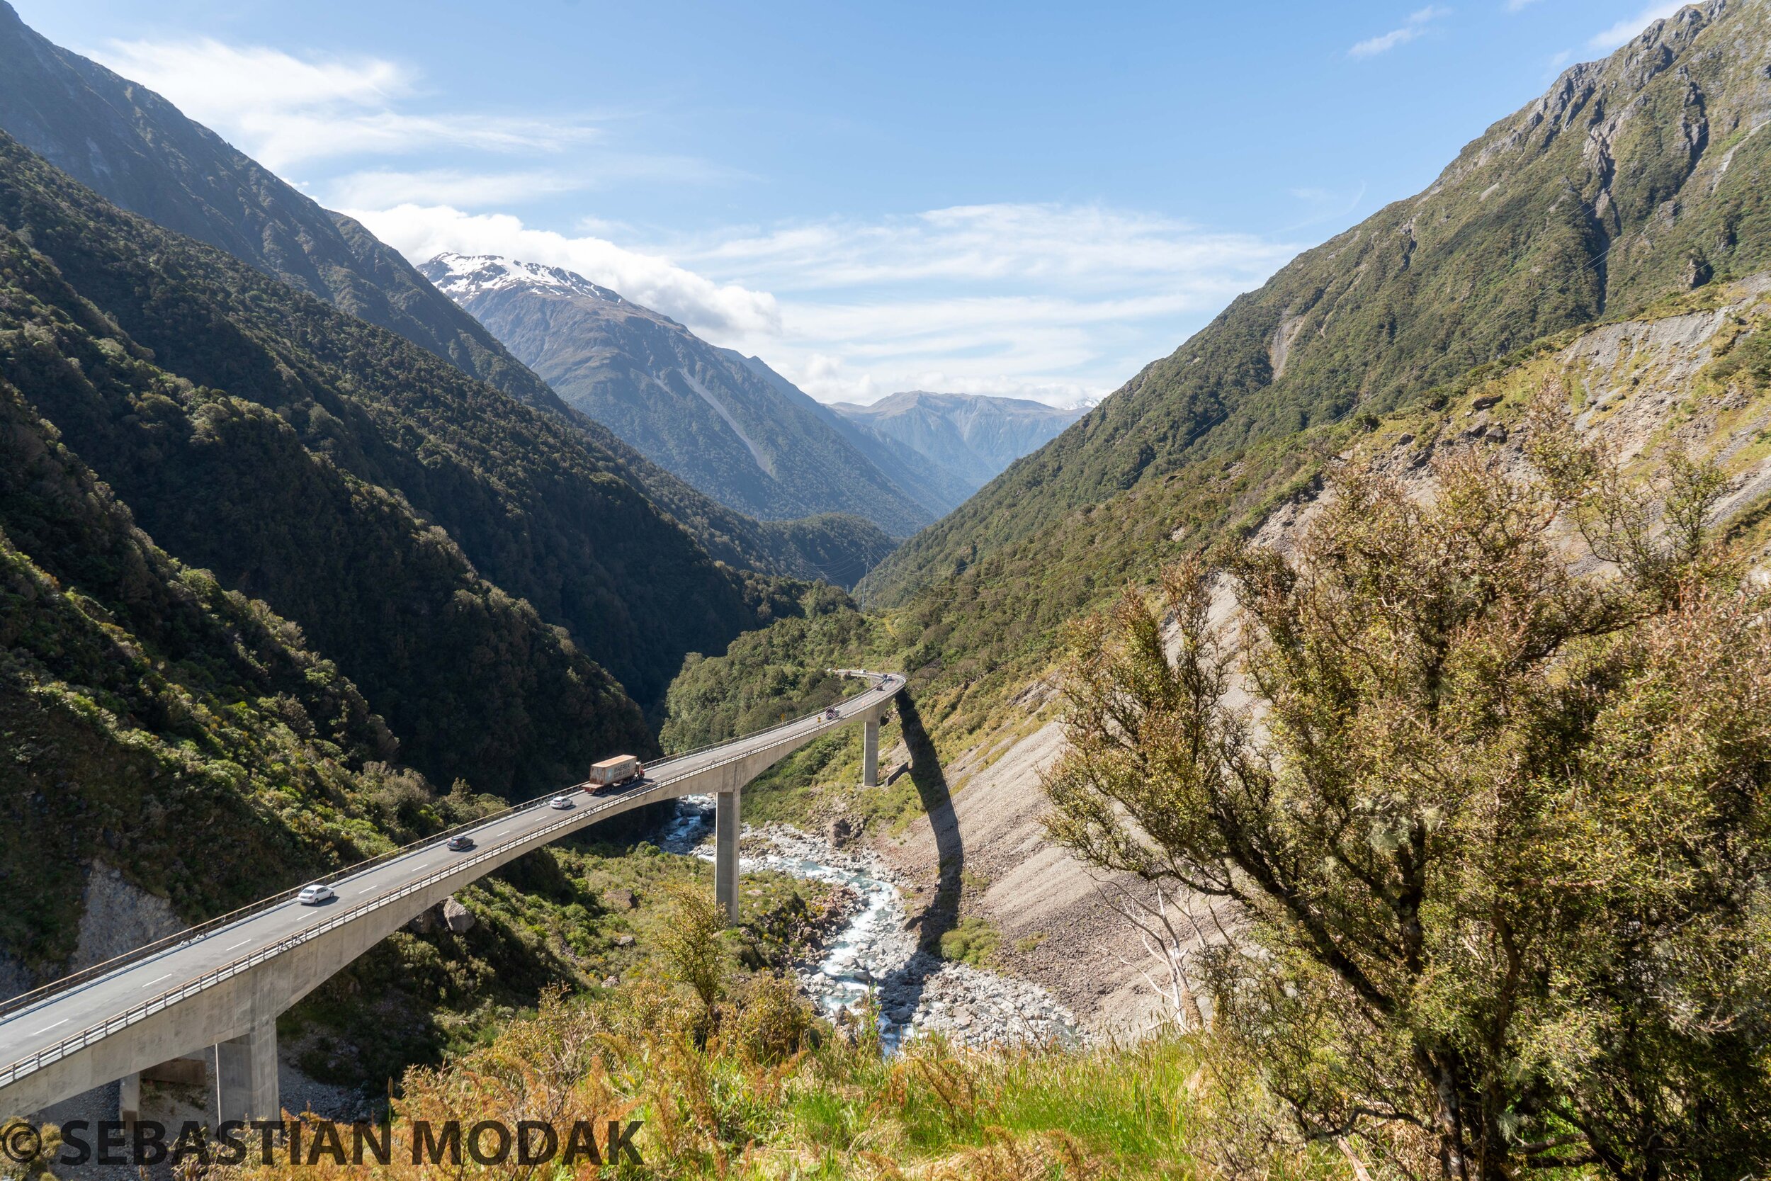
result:
<svg viewBox="0 0 1771 1181"><path fill-rule="evenodd" d="M1705 0L1098 404L824 404L0 0L0 1002L533 800L273 1075L646 1176L1750 1174L1766 124Z"/></svg>

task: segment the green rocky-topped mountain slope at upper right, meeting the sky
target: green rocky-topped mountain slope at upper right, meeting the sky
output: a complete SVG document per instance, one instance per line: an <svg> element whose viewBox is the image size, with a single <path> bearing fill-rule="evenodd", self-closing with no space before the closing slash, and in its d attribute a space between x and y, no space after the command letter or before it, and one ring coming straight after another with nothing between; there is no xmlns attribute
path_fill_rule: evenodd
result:
<svg viewBox="0 0 1771 1181"><path fill-rule="evenodd" d="M1771 11L1709 0L1574 66L1419 197L1305 251L861 586L903 602L1064 513L1771 259Z"/></svg>

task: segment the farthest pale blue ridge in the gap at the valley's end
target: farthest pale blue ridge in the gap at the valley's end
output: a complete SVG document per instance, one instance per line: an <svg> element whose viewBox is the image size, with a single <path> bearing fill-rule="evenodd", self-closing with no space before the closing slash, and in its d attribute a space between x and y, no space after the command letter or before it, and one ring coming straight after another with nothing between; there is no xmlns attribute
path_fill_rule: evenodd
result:
<svg viewBox="0 0 1771 1181"><path fill-rule="evenodd" d="M972 490L1087 413L1087 407L1059 409L1027 398L926 390L893 393L871 405L831 402L831 409L917 450Z"/></svg>

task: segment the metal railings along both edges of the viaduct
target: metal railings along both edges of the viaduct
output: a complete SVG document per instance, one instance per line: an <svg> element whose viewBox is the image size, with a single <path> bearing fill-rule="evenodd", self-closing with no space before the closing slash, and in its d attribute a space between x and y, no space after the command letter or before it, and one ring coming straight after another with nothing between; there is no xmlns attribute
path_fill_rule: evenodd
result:
<svg viewBox="0 0 1771 1181"><path fill-rule="evenodd" d="M845 673L847 673L847 669L845 669ZM871 676L878 676L878 680L873 685L875 691L886 689L891 683L891 680L893 680L893 675L889 675L889 673L886 673L886 675L866 675L866 676L870 676L870 678ZM898 689L901 689L901 683L898 685ZM886 692L884 698L894 696L898 692L898 689L893 689L891 692ZM705 754L707 751L715 751L719 747L739 745L739 744L753 744L756 738L777 733L781 729L788 729L792 726L800 726L802 722L808 722L808 721L816 721L818 717L820 717L820 714L809 714L806 717L795 717L790 722L781 722L777 726L769 726L765 729L758 729L754 733L744 735L742 738L730 738L726 742L715 742L715 744L700 747L696 751L677 754L677 756L671 756L669 760L659 763L657 768L659 770L666 770L671 763L680 763L680 761L684 761L687 758L694 758L696 754ZM847 722L847 721L854 721L854 719L852 717L838 719L838 722ZM838 724L838 722L832 722L832 724ZM668 776L666 774L662 779L653 781L650 790L668 788L671 783L677 783L680 779L687 779L689 776L700 776L700 774L705 774L705 772L714 770L717 767L726 767L730 763L737 763L740 760L751 758L753 754L767 751L769 745L774 745L774 744L765 744L760 751L758 749L746 749L742 753L731 754L730 758L715 760L712 763L707 763L705 767L696 767L692 770L685 768L678 776ZM652 777L648 776L648 781ZM574 784L572 788L567 788L567 791L576 791L576 790L581 790L584 786L586 786L584 783L579 783L579 784ZM517 816L517 814L522 814L522 813L528 813L528 811L535 811L537 807L542 807L547 800L551 800L554 795L560 795L560 791L553 791L549 795L540 795L540 797L537 797L533 800L526 800L526 802L517 804L514 807L507 807L505 811L496 813L492 816L482 816L480 820L473 820L469 823L455 825L453 829L446 829L443 832L432 834L432 836L425 838L423 841L414 841L413 845L406 845L402 848L390 850L386 853L379 853L377 857L370 857L367 861L361 861L361 862L358 862L358 864L354 864L354 866L351 866L347 869L340 869L340 871L329 873L324 878L319 878L319 882L329 884L329 882L338 882L338 880L344 880L344 878L352 878L352 876L356 876L360 873L365 873L368 869L375 869L377 866L388 864L391 861L398 861L400 857L404 857L407 853L416 853L416 852L423 852L427 848L432 848L437 843L446 841L450 836L455 836L459 832L483 829L483 827L499 823L503 820L508 820L512 816ZM620 807L620 804L623 804L627 799L630 799L634 795L639 795L639 793L625 793L625 795L618 795L618 797L606 797L602 802L592 806L588 811L574 813L572 816L561 816L554 823L542 825L540 829L533 829L533 830L524 832L521 836L514 836L512 839L505 841L503 845L482 850L482 852L475 853L473 857L466 857L466 859L460 859L460 861L452 861L448 864L448 868L445 868L445 869L439 869L439 871L430 873L430 875L427 875L423 878L418 878L416 882L407 882L404 885L398 885L398 887L393 887L393 889L384 891L381 894L375 894L375 898L372 898L368 901L363 901L363 903L356 903L349 910L344 910L344 912L340 912L336 915L329 915L326 919L321 919L319 922L313 922L312 926L306 926L306 928L303 928L299 931L294 931L292 935L285 935L283 938L276 940L275 944L269 944L266 947L259 947L255 951L250 951L244 956L239 956L236 960L230 960L228 963L223 963L221 967L209 969L207 972L202 972L202 974L198 974L198 976L184 981L182 984L175 984L175 986L172 986L172 988L168 988L168 990L165 990L161 993L156 993L149 1000L135 1004L135 1006L124 1009L119 1015L108 1016L103 1022L96 1022L96 1023L81 1029L80 1032L69 1034L67 1038L62 1038L60 1041L57 1041L51 1046L46 1046L43 1050L34 1050L32 1054L27 1054L25 1057L16 1059L14 1062L0 1066L0 1087L7 1087L7 1085L18 1082L19 1078L23 1078L25 1075L32 1075L32 1073L43 1069L44 1066L51 1066L51 1064L58 1062L60 1059L67 1057L69 1054L83 1050L89 1045L112 1036L113 1032L128 1029L129 1025L135 1025L136 1022L142 1022L142 1020L152 1016L154 1013L161 1013L166 1007L177 1004L179 1000L184 1000L188 997L202 993L207 988L214 988L216 984L221 984L221 983L232 979L234 976L239 976L241 972L251 970L251 969L259 967L260 963L266 963L267 960L273 960L273 958L283 954L285 951L290 951L292 947L299 947L301 944L306 944L306 942L310 942L313 938L319 938L321 935L335 931L335 930L338 930L340 926L344 926L347 922L352 922L352 921L356 921L356 919L360 919L360 917L363 917L367 914L372 914L372 912L375 912L375 910L379 910L383 907L388 907L388 905L391 905L391 903L395 903L395 901L398 901L402 898L416 894L418 891L430 889L432 885L436 885L436 884L439 884L439 882L443 882L446 878L452 878L452 876L459 875L462 869L469 869L469 868L473 868L476 864L483 864L483 862L487 862L487 861L491 861L494 857L501 857L501 855L508 853L514 846L521 846L521 845L545 845L545 843L549 843L549 839L544 839L544 838L551 838L551 834L556 834L561 829L584 827L588 823L593 823L593 818L599 816L599 814L602 814L602 813L625 811L625 807ZM478 876L478 875L475 875L475 876ZM303 885L308 885L308 884L303 884ZM216 919L209 919L207 922L200 922L197 926L186 928L186 930L179 931L177 935L168 935L165 938L154 940L152 944L145 944L143 947L136 947L131 953L124 953L122 956L117 956L113 960L106 960L104 963L92 965L90 969L83 969L81 972L74 972L73 976L66 976L66 977L62 977L58 981L53 981L50 984L35 988L35 990L32 990L28 993L23 993L21 997L14 997L11 1002L7 1002L4 1007L0 1007L0 1018L4 1018L5 1015L11 1015L11 1013L18 1013L21 1007L32 1007L37 1002L48 999L50 995L64 993L64 992L67 992L67 990L71 990L74 986L87 984L87 983L90 983L94 979L101 979L104 976L110 976L110 974L117 972L117 970L120 970L120 969L124 969L124 967L128 967L131 963L140 963L142 960L152 958L152 956L159 954L161 951L177 949L177 947L182 947L186 944L197 942L198 938L204 938L205 935L211 935L211 933L214 933L216 930L220 930L223 926L232 926L232 924L241 922L244 919L250 919L250 917L253 917L257 914L264 914L266 910L289 901L298 892L301 892L301 889L303 887L294 887L294 889L283 891L282 894L275 894L275 896L271 896L267 899L262 899L259 903L253 903L250 907L243 907L239 910L228 912L228 914L220 915Z"/></svg>

